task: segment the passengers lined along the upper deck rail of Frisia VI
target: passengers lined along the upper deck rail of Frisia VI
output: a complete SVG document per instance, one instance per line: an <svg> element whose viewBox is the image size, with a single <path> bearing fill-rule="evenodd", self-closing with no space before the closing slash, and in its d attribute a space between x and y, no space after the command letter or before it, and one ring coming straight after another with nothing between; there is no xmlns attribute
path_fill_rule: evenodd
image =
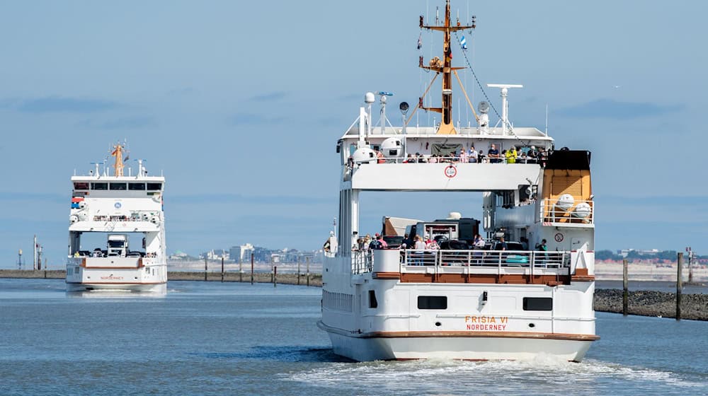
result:
<svg viewBox="0 0 708 396"><path fill-rule="evenodd" d="M377 163L386 163L387 159L380 152L376 152ZM470 146L468 150L464 146L458 152L449 154L432 154L430 156L422 155L421 153L409 153L404 163L539 163L544 165L547 158L546 151L539 151L535 146L523 148L513 146L508 150L503 150L501 153L492 144L489 150L485 153L484 150L477 151L474 146Z"/></svg>

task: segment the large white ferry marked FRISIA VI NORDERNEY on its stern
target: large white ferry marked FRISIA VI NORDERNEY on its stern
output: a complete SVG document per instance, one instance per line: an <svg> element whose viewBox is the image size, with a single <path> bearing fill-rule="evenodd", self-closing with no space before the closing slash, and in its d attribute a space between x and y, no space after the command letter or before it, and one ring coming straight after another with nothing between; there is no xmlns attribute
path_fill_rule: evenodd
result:
<svg viewBox="0 0 708 396"><path fill-rule="evenodd" d="M381 123L374 125L375 95L365 95L358 120L337 143L340 221L326 244L318 325L329 333L336 354L356 361L515 360L538 354L581 361L599 339L593 311L590 152L556 149L552 137L539 129L512 127L507 99L510 88L522 88L518 85L488 85L501 88L496 126L489 118L490 110L496 110L486 102L476 111L470 105L476 124L455 126L452 76L464 68L452 66L452 45L459 41L459 30L474 28L474 19L470 25L453 23L447 0L440 23L425 25L421 16L420 24L444 35L442 59L420 59L433 81L442 78L442 103L426 107L423 97L413 112L440 113L439 124L411 126L413 114L401 103L407 121L393 127L385 116L391 94L380 92ZM464 59L457 54L455 59ZM459 87L464 93L462 83ZM470 146L477 151L474 162L458 155ZM494 156L517 149L516 158ZM359 199L370 191L477 192L483 201L481 219L466 219L464 226L459 215L411 220L406 228L406 219L381 214L384 240L400 241L406 236L402 230L408 230L407 248L362 249ZM465 245L469 240L463 236L470 238L480 226L485 248ZM431 243L430 249L411 249L416 235L441 241L442 248ZM506 250L501 250L501 237L509 241ZM456 244L445 244L446 238Z"/></svg>

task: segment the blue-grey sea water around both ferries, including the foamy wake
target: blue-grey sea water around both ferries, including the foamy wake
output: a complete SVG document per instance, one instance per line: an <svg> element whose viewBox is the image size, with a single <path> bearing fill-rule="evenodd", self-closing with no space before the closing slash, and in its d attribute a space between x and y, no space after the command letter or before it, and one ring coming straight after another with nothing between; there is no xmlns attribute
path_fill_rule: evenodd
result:
<svg viewBox="0 0 708 396"><path fill-rule="evenodd" d="M351 363L315 325L318 288L168 289L0 279L0 395L708 395L708 322L598 313L583 363Z"/></svg>

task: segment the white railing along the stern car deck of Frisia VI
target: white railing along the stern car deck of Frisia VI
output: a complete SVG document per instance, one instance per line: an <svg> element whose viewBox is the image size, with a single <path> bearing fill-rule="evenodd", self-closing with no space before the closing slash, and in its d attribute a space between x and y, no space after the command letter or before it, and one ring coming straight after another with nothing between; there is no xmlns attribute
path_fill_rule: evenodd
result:
<svg viewBox="0 0 708 396"><path fill-rule="evenodd" d="M352 253L352 274L372 272L372 250ZM401 267L569 268L571 252L534 250L399 250Z"/></svg>

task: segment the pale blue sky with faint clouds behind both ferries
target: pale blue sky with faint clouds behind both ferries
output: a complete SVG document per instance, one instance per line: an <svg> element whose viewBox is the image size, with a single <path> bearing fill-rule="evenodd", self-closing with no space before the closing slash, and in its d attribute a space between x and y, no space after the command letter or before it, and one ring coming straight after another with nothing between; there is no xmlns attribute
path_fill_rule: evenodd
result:
<svg viewBox="0 0 708 396"><path fill-rule="evenodd" d="M440 56L442 40L423 33L419 52L418 16L443 5L0 3L0 267L13 267L18 249L31 263L33 235L62 267L69 178L116 141L166 177L169 252L320 248L337 214L336 141L367 91L417 103L430 78L418 56ZM556 146L593 152L596 250L708 252L707 8L452 2L463 23L476 16L464 34L479 81L524 85L510 93L511 122L543 130L548 107ZM472 102L484 100L472 74L462 78ZM500 106L496 90L486 95ZM362 194L363 233L383 215L481 216L479 194L399 194Z"/></svg>

